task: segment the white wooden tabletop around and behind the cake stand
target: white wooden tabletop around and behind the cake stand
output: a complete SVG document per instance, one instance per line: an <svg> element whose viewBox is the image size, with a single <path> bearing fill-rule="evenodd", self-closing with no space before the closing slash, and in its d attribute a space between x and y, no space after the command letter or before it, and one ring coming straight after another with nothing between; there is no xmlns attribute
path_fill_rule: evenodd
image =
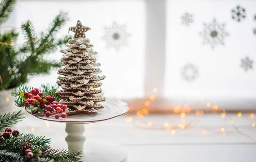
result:
<svg viewBox="0 0 256 162"><path fill-rule="evenodd" d="M132 122L125 118L133 117ZM256 139L255 119L249 114L239 118L231 115L234 124L247 135ZM164 123L177 126L193 119L193 127L183 130L165 130ZM229 118L218 115L186 115L185 121L176 115L149 115L139 119L125 115L105 122L87 124L87 139L98 138L116 142L128 152L128 162L256 162L256 143L237 133ZM224 120L226 124L224 125ZM147 122L151 122L150 127ZM156 126L157 125L157 126ZM139 128L142 126L143 128ZM53 148L67 148L64 137L65 124L44 122L28 116L17 129L52 139ZM225 128L225 133L221 132ZM35 130L34 130L34 129ZM34 130L34 131L32 131Z"/></svg>

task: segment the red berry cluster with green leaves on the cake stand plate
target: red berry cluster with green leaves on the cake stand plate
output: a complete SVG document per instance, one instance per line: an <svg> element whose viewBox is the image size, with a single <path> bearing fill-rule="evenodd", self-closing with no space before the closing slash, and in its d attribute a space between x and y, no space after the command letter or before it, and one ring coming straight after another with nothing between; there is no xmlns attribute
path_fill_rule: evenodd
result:
<svg viewBox="0 0 256 162"><path fill-rule="evenodd" d="M44 97L43 93L39 92L38 88L31 90L31 93L24 92L23 95L24 98L26 98L25 106L28 107L32 113L38 113L39 111L47 117L55 115L56 119L59 119L60 116L61 118L67 117L67 114L64 113L67 110L67 105L59 104L55 101L55 97L49 95Z"/></svg>

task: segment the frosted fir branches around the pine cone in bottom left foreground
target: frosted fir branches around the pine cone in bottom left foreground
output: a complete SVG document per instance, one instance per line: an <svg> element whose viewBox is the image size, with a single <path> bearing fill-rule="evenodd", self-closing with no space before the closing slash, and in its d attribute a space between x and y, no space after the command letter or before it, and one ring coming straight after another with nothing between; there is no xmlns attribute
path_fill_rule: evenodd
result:
<svg viewBox="0 0 256 162"><path fill-rule="evenodd" d="M10 153L13 153L14 157L17 158L18 156L19 159L22 159L21 161L17 162L34 162L33 159L27 159L26 156L24 156L24 153L21 152L20 146L24 142L31 143L34 149L39 148L43 152L44 158L41 158L39 162L81 162L82 152L68 152L64 149L53 149L49 145L50 139L45 139L43 136L35 136L33 134L23 133L17 137L12 136L10 139L0 141L0 157L6 157L12 160L13 157ZM1 154L3 154L3 156L1 156Z"/></svg>

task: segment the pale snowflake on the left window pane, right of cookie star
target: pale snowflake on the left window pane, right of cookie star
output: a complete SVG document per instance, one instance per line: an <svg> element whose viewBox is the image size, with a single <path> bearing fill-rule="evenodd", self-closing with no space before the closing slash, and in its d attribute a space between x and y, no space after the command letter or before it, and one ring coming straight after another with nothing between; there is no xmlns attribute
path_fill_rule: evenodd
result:
<svg viewBox="0 0 256 162"><path fill-rule="evenodd" d="M118 25L116 22L113 22L111 26L105 26L105 35L102 36L102 39L106 41L107 48L113 47L118 51L121 46L128 45L128 38L131 36L130 33L126 31L126 26Z"/></svg>

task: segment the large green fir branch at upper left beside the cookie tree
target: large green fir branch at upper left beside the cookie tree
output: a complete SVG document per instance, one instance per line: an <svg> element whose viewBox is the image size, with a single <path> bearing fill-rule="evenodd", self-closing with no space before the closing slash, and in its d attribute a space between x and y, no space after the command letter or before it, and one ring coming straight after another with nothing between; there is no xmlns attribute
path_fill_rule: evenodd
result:
<svg viewBox="0 0 256 162"><path fill-rule="evenodd" d="M1 12L3 11L0 8ZM42 32L40 36L36 35L32 22L27 20L21 26L26 42L20 48L0 44L0 75L3 79L0 90L18 87L26 83L29 76L49 74L52 68L60 67L58 62L49 61L45 59L44 55L55 52L58 47L66 44L71 38L70 36L55 38L55 34L66 23L66 20L65 13L58 14L53 19L48 31ZM15 43L16 38L17 33L14 31L0 34L1 42Z"/></svg>

